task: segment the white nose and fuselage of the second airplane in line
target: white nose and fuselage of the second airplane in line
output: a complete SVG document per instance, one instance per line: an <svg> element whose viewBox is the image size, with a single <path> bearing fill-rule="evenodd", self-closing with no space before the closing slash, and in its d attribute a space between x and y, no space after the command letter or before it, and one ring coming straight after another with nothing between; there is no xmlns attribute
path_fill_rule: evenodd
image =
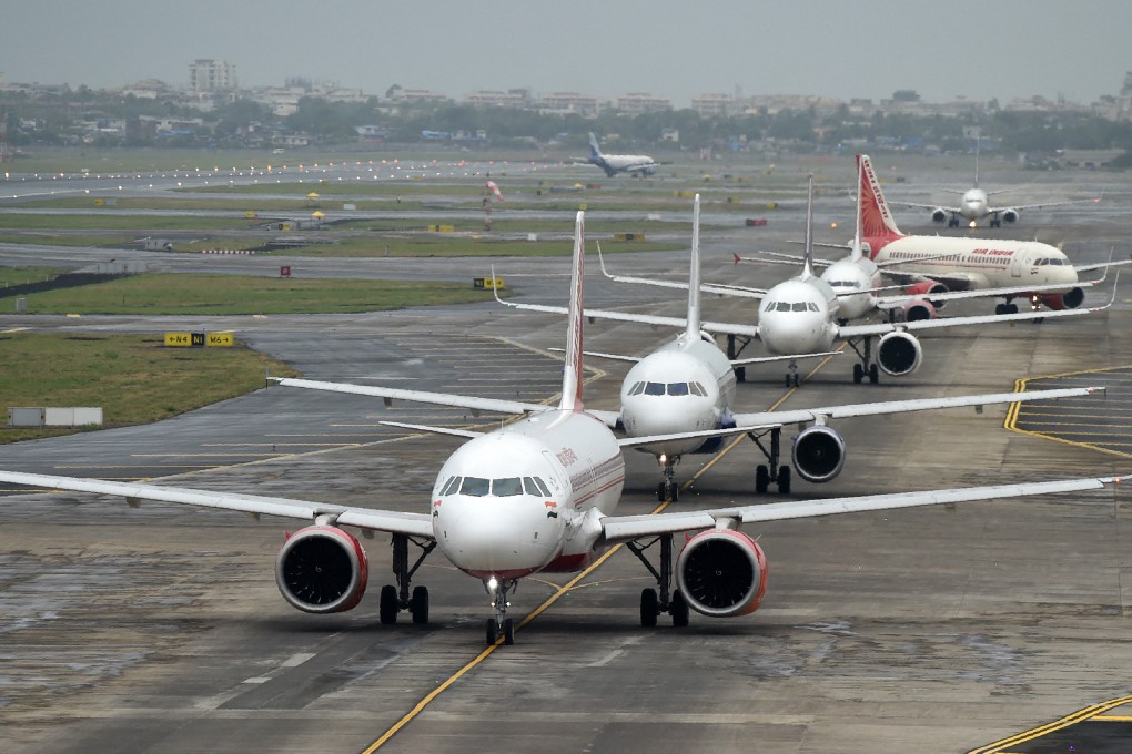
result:
<svg viewBox="0 0 1132 754"><path fill-rule="evenodd" d="M631 437L718 430L730 419L735 370L715 344L688 333L645 356L621 383L621 423ZM655 456L692 452L704 440L643 448Z"/></svg>

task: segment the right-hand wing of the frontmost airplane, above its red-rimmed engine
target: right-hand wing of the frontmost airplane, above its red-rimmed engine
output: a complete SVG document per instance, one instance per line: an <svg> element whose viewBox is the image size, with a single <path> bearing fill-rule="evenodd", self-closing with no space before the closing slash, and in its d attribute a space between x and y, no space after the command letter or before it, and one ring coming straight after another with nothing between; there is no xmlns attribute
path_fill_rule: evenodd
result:
<svg viewBox="0 0 1132 754"><path fill-rule="evenodd" d="M787 519L834 515L837 513L860 513L885 511L899 508L942 505L975 500L997 500L1002 497L1024 497L1049 495L1088 489L1103 489L1106 485L1118 485L1124 477L1087 477L1055 482L1027 482L987 487L957 487L924 492L901 492L885 495L863 495L857 497L832 497L827 500L798 500L782 503L740 505L705 511L660 513L657 515L607 515L601 519L604 544L631 541L642 537L654 537L677 531L694 531L711 528L735 528L743 523L760 521L784 521Z"/></svg>

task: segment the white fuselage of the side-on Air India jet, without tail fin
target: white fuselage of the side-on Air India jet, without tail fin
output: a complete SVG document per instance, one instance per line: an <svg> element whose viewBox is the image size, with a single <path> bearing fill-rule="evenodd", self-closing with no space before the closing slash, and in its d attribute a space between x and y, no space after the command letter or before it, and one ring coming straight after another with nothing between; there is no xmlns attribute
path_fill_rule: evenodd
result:
<svg viewBox="0 0 1132 754"><path fill-rule="evenodd" d="M1065 293L1078 283L1065 254L1037 241L906 235L866 242L876 263L901 262L900 271L937 277L952 289L1064 285L1057 293Z"/></svg>

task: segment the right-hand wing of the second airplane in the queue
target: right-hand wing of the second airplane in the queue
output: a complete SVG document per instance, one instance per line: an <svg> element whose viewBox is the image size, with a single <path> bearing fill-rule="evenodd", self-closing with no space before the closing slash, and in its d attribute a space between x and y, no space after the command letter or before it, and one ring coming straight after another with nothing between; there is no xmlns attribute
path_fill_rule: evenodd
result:
<svg viewBox="0 0 1132 754"><path fill-rule="evenodd" d="M884 414L907 414L940 408L962 408L966 406L993 406L1030 400L1054 400L1057 398L1080 398L1105 392L1105 388L1063 388L1057 390L1028 390L1024 392L994 392L981 396L955 396L951 398L919 398L916 400L883 400L871 404L847 404L824 408L796 408L756 414L735 414L736 424L807 424L854 416L882 416Z"/></svg>

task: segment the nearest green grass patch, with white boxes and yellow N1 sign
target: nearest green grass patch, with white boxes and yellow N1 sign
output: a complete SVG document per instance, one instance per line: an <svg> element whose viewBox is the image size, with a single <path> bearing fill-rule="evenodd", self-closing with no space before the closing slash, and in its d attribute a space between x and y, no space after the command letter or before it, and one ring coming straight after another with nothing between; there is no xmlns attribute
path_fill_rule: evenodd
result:
<svg viewBox="0 0 1132 754"><path fill-rule="evenodd" d="M286 364L239 343L231 348L166 348L154 335L0 335L0 396L10 406L101 406L105 426L143 424L234 398ZM7 419L6 419L7 422ZM77 430L0 427L0 442Z"/></svg>

